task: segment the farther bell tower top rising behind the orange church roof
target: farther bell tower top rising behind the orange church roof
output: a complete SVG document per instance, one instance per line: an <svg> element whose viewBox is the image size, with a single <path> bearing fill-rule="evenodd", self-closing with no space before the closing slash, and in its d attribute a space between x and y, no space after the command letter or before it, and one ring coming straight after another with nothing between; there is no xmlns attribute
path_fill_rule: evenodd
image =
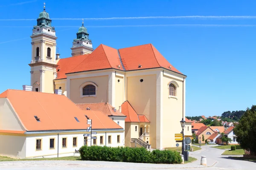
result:
<svg viewBox="0 0 256 170"><path fill-rule="evenodd" d="M76 39L73 41L71 50L72 57L91 54L93 52L93 43L92 40L89 40L89 34L87 33L87 29L84 27L84 20L82 22L82 26L76 33Z"/></svg>

